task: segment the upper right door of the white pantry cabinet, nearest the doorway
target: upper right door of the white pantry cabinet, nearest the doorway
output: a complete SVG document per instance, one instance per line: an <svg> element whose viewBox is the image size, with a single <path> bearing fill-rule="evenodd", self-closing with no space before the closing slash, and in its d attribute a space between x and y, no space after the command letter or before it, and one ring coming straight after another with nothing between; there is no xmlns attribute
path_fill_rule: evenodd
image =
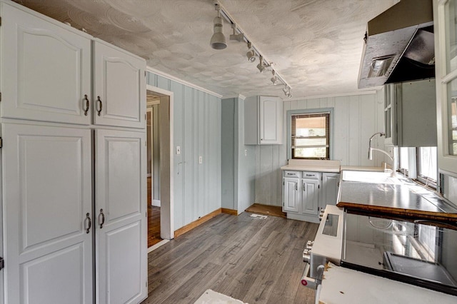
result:
<svg viewBox="0 0 457 304"><path fill-rule="evenodd" d="M146 128L146 61L94 41L94 123Z"/></svg>

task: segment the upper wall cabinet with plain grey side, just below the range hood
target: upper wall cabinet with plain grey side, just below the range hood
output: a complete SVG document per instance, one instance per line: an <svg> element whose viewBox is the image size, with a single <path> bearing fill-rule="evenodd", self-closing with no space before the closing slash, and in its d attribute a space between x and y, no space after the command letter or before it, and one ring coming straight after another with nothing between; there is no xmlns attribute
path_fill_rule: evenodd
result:
<svg viewBox="0 0 457 304"><path fill-rule="evenodd" d="M385 86L384 126L388 146L436 146L435 79Z"/></svg>

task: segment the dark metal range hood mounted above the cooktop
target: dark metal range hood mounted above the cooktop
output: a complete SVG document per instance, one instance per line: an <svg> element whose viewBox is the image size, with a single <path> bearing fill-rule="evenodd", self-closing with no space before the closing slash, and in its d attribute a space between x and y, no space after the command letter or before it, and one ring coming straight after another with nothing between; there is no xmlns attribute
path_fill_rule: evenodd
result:
<svg viewBox="0 0 457 304"><path fill-rule="evenodd" d="M435 77L432 0L401 0L368 21L358 88Z"/></svg>

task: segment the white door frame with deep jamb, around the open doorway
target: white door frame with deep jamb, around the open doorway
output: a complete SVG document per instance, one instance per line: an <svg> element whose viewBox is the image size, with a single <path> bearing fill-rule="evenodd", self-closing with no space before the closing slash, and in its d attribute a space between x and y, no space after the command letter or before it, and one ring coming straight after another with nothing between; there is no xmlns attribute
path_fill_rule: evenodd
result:
<svg viewBox="0 0 457 304"><path fill-rule="evenodd" d="M160 236L164 240L171 240L174 238L174 181L173 181L173 123L174 123L174 93L171 91L158 88L146 84L146 91L151 91L161 96L160 109L168 109L168 115L161 113L159 118L159 129L161 135L159 136L161 145L161 158L160 158L160 195L161 195L161 208L160 208ZM168 119L168 123L166 123Z"/></svg>

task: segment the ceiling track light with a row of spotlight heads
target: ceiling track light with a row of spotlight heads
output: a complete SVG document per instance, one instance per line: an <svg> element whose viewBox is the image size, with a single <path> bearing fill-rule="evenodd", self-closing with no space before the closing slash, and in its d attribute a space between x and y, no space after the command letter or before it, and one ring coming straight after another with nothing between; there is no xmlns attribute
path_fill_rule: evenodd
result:
<svg viewBox="0 0 457 304"><path fill-rule="evenodd" d="M272 67L272 62L268 61L263 54L258 51L258 48L254 46L251 42L251 39L246 36L244 31L237 26L235 20L230 16L230 14L224 9L223 6L219 3L219 0L214 0L213 1L214 8L217 11L217 16L214 19L214 34L211 36L211 41L210 45L213 49L226 49L227 43L226 43L226 37L224 36L223 33L223 26L224 26L224 19L231 24L231 29L233 31L233 34L230 35L229 39L233 41L238 41L242 42L245 41L246 44L248 45L248 51L246 52L246 57L248 59L248 62L254 62L256 61L256 57L259 59L259 63L257 64L257 69L261 73L267 69L271 68L271 73L273 76L271 77L271 82L273 83L274 86L276 86L278 83L283 83L284 88L283 92L288 98L292 98L291 94L291 86L287 83L284 78L278 74L278 71L274 70Z"/></svg>

